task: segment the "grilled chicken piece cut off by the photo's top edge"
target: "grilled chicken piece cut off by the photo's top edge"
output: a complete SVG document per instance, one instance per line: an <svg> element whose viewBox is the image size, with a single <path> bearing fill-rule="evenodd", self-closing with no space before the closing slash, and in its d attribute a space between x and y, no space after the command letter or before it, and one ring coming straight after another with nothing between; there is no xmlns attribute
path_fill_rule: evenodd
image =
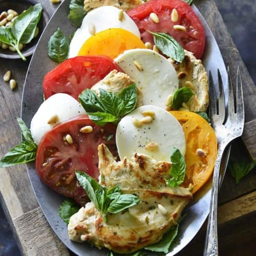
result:
<svg viewBox="0 0 256 256"><path fill-rule="evenodd" d="M112 5L125 12L142 5L142 0L84 0L84 10L91 11L100 6Z"/></svg>

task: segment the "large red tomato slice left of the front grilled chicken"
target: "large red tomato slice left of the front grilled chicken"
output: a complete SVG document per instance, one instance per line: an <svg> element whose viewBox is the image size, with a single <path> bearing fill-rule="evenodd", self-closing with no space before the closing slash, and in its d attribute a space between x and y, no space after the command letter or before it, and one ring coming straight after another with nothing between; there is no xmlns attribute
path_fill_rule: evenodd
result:
<svg viewBox="0 0 256 256"><path fill-rule="evenodd" d="M81 133L83 126L91 125L91 133ZM86 202L85 191L79 186L75 170L80 170L98 180L98 145L106 144L117 156L115 145L116 127L103 127L92 122L87 115L80 115L57 124L45 134L37 149L36 170L41 180L57 193L74 197L81 205ZM63 140L70 134L73 143ZM113 137L107 141L108 136Z"/></svg>

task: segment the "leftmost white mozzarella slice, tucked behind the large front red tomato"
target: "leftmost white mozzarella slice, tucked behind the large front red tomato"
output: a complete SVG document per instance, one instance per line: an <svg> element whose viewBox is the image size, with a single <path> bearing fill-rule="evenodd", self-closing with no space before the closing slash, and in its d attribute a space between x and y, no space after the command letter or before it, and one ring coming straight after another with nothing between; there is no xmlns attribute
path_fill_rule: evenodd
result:
<svg viewBox="0 0 256 256"><path fill-rule="evenodd" d="M66 93L56 93L42 102L32 118L30 131L38 145L42 136L52 127L76 115L86 114L77 100Z"/></svg>

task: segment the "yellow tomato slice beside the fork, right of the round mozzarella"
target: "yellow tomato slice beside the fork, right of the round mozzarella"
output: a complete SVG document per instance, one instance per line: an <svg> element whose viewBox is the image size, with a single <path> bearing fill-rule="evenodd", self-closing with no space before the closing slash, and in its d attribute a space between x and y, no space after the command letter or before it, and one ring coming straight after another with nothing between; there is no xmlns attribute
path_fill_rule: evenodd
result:
<svg viewBox="0 0 256 256"><path fill-rule="evenodd" d="M200 189L210 178L217 157L217 138L209 123L196 113L170 111L180 122L186 139L186 176L181 186L193 184L192 193ZM198 156L201 148L205 156Z"/></svg>

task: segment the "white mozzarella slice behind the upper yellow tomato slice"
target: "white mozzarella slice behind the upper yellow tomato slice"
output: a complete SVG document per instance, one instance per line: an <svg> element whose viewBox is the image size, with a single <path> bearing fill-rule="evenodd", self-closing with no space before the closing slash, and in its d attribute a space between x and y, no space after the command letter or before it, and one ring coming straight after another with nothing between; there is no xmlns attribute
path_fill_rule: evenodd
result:
<svg viewBox="0 0 256 256"><path fill-rule="evenodd" d="M92 36L91 33L98 33L110 28L122 28L140 38L138 27L125 12L123 12L122 19L119 20L120 11L114 6L102 6L90 11L83 18L81 27L77 29L70 42L69 58L77 56L84 42Z"/></svg>

